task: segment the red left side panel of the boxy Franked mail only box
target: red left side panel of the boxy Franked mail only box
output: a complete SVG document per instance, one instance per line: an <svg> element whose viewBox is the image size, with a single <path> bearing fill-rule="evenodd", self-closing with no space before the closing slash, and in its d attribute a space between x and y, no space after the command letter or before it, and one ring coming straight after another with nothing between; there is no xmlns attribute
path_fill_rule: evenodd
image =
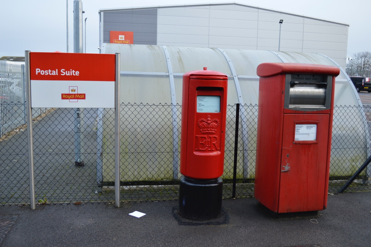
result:
<svg viewBox="0 0 371 247"><path fill-rule="evenodd" d="M285 75L260 78L254 196L278 210Z"/></svg>

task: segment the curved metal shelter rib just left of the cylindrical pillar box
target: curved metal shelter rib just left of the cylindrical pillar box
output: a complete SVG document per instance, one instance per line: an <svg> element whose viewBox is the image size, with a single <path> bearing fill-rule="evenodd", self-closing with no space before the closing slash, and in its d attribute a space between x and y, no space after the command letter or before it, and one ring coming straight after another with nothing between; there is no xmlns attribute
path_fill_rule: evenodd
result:
<svg viewBox="0 0 371 247"><path fill-rule="evenodd" d="M174 83L174 74L173 66L171 66L170 55L166 46L161 45L164 49L165 58L167 62L167 69L169 71L169 81L170 81L170 93L171 93L171 112L173 118L173 179L178 179L179 173L179 157L178 157L178 116L177 116L177 101L175 98L175 83Z"/></svg>

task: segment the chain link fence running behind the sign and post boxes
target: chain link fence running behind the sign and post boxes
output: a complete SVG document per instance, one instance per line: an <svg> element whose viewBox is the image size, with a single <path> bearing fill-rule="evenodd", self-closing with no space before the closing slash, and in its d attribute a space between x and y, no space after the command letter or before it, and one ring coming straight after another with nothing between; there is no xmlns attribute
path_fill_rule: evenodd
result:
<svg viewBox="0 0 371 247"><path fill-rule="evenodd" d="M8 107L26 108L22 103L2 103L0 107L1 112ZM33 118L35 194L40 204L115 200L114 109L80 110L82 141L78 144L83 150L83 166L75 164L75 110L33 109L40 113ZM227 107L224 198L253 196L258 107L239 107L237 149L236 110L236 105ZM121 200L177 199L181 106L121 104L120 111ZM364 113L361 120L349 117L359 112ZM329 193L336 193L370 155L366 143L370 141L370 114L370 107L334 108ZM27 126L14 121L17 127L0 137L0 201L29 204ZM347 189L369 190L367 169Z"/></svg>

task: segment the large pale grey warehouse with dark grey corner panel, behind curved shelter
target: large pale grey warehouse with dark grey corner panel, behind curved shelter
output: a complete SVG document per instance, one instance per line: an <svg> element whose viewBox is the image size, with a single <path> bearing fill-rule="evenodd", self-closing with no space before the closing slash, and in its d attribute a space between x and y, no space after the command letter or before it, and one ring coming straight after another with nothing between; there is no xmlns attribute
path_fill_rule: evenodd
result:
<svg viewBox="0 0 371 247"><path fill-rule="evenodd" d="M236 2L101 9L99 14L101 47L109 43L110 31L126 31L134 33L134 44L321 53L345 68L345 23Z"/></svg>

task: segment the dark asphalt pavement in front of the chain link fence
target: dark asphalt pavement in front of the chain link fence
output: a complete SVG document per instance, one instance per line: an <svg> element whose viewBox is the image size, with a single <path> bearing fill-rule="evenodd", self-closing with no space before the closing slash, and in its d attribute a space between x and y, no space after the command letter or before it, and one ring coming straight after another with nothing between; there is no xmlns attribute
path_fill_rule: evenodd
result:
<svg viewBox="0 0 371 247"><path fill-rule="evenodd" d="M371 192L328 196L318 215L276 217L255 198L223 200L212 221L182 220L178 201L3 206L15 217L1 246L370 246ZM129 213L146 215L136 218ZM187 222L187 224L184 224Z"/></svg>

